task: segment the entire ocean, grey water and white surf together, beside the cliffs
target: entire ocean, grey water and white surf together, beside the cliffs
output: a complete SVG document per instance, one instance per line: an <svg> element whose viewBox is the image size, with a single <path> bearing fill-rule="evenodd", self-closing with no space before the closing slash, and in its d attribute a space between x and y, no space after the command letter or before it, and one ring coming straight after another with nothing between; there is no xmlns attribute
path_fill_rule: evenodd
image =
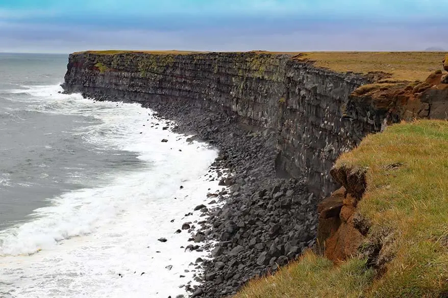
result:
<svg viewBox="0 0 448 298"><path fill-rule="evenodd" d="M0 53L0 297L185 294L204 253L175 231L219 188L217 151L138 104L60 93L66 64Z"/></svg>

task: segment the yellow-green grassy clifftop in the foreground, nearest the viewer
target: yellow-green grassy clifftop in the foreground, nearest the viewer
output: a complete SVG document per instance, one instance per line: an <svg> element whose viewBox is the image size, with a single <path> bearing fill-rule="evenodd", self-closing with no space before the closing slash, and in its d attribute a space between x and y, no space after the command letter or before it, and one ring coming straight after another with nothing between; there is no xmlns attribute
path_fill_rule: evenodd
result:
<svg viewBox="0 0 448 298"><path fill-rule="evenodd" d="M335 166L366 173L357 212L370 228L359 255L334 265L308 252L236 298L447 297L447 157L446 121L401 123L365 138ZM368 260L372 247L376 259Z"/></svg>

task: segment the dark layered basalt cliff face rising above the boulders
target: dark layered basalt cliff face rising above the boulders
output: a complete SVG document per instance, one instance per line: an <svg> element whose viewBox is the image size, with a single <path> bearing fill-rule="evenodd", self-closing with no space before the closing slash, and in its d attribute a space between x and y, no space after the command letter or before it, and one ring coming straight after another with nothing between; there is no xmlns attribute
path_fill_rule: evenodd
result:
<svg viewBox="0 0 448 298"><path fill-rule="evenodd" d="M323 196L337 187L330 175L336 158L387 117L387 106L350 96L373 79L286 54L80 52L69 57L63 87L112 100L194 104L236 115L243 128L276 130L278 173L305 175L310 191Z"/></svg>

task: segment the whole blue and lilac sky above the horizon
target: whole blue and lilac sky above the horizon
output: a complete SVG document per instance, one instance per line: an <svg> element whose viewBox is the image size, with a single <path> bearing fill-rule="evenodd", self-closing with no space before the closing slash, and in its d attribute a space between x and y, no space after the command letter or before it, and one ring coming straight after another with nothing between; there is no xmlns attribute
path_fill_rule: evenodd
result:
<svg viewBox="0 0 448 298"><path fill-rule="evenodd" d="M0 52L448 50L448 0L0 0Z"/></svg>

